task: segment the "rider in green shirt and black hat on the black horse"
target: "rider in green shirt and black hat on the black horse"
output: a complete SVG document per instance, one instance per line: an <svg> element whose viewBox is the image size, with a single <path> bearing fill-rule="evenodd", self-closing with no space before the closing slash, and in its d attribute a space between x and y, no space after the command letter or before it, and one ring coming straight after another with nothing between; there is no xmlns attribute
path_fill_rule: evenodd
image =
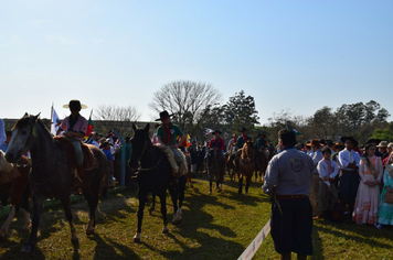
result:
<svg viewBox="0 0 393 260"><path fill-rule="evenodd" d="M180 129L179 126L174 124L171 122L170 117L172 115L169 115L167 110L160 112L160 118L156 119L156 121L161 120L161 126L157 128L157 141L159 144L159 148L163 150L163 152L167 154L169 163L172 166L172 171L176 175L174 182L179 182L179 164L183 161L181 151L178 149L181 147L183 140L184 140L184 133ZM170 154L168 154L166 151L168 149L172 151L174 160L171 160Z"/></svg>

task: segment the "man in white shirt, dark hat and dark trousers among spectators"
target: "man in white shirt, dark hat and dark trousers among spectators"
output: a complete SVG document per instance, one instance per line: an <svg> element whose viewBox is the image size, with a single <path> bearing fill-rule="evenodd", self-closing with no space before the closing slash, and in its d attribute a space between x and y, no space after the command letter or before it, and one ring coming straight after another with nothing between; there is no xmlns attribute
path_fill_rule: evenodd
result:
<svg viewBox="0 0 393 260"><path fill-rule="evenodd" d="M359 163L360 154L353 150L358 145L357 140L352 137L342 137L341 141L344 143L346 149L342 150L337 163L341 170L339 198L343 206L349 205L350 217L353 213L354 199L358 194L359 186Z"/></svg>

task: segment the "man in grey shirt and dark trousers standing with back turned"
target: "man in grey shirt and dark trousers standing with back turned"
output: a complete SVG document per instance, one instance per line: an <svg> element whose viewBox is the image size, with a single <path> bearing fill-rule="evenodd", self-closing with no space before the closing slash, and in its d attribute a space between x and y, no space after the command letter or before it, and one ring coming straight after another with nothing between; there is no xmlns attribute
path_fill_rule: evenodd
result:
<svg viewBox="0 0 393 260"><path fill-rule="evenodd" d="M262 186L274 198L272 205L272 238L282 259L298 259L312 254L312 207L309 194L312 185L314 163L310 156L295 149L293 131L278 131L280 153L273 156Z"/></svg>

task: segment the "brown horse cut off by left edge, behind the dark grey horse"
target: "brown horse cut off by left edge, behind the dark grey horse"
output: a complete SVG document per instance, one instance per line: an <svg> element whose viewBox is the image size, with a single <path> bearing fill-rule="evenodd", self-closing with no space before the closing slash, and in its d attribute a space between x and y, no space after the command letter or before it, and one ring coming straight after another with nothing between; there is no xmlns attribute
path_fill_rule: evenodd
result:
<svg viewBox="0 0 393 260"><path fill-rule="evenodd" d="M24 226L23 231L29 231L30 214L29 214L29 172L31 167L31 161L26 156L22 156L21 160L15 163L7 162L3 152L0 150L0 191L8 192L11 197L11 210L10 214L1 227L0 239L4 238L8 234L15 213L19 207L22 207ZM6 180L9 176L9 180Z"/></svg>

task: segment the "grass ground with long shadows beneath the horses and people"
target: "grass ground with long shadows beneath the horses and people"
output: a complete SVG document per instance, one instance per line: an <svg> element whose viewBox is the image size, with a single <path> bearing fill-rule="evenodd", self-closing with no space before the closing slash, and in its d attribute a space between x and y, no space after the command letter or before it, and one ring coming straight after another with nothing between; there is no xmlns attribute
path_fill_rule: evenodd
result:
<svg viewBox="0 0 393 260"><path fill-rule="evenodd" d="M205 177L194 180L188 187L183 204L183 221L170 224L162 235L162 218L147 205L141 243L134 243L137 227L137 188L113 189L102 199L97 210L96 232L86 237L88 219L85 201L72 205L79 247L71 243L64 212L56 205L42 214L39 242L23 259L237 259L269 219L269 198L263 194L261 183L253 183L249 196L237 194L237 183L226 177L221 194L208 195ZM151 199L150 199L151 202ZM169 220L172 206L168 195ZM4 221L4 217L0 219ZM326 225L315 220L315 254L310 259L393 259L393 229L376 229L352 223ZM12 223L9 236L0 241L1 259L21 259L20 250L29 234L19 231L22 214ZM270 236L262 243L254 259L278 259Z"/></svg>

